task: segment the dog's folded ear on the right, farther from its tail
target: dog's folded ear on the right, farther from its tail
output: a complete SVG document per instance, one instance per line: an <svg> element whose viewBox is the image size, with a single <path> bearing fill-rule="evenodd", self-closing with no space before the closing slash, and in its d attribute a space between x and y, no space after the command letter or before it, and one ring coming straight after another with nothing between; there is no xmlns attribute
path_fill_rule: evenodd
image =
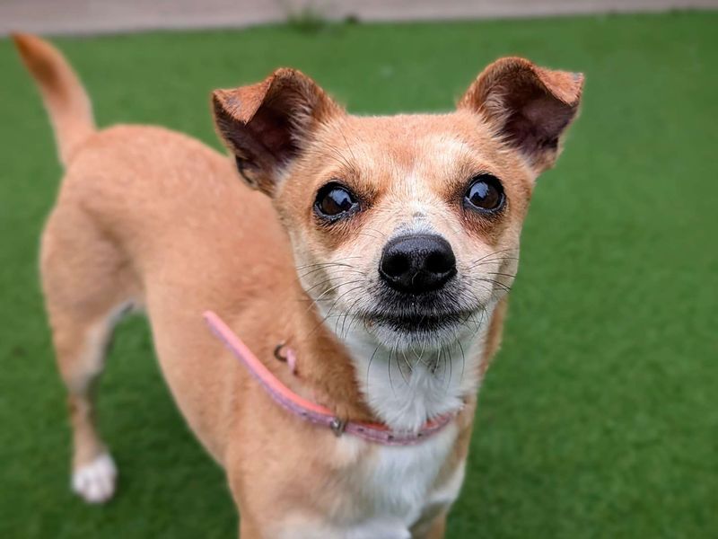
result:
<svg viewBox="0 0 718 539"><path fill-rule="evenodd" d="M459 108L481 114L538 174L555 163L561 134L576 116L582 88L580 73L505 57L477 76Z"/></svg>

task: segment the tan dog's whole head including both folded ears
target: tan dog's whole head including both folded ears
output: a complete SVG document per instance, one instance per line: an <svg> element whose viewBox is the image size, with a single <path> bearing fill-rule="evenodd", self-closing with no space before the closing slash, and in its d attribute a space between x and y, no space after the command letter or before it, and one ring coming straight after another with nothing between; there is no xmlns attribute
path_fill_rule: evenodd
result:
<svg viewBox="0 0 718 539"><path fill-rule="evenodd" d="M217 91L214 103L329 327L432 350L484 327L511 287L534 181L581 88L581 75L505 58L450 114L351 116L291 70Z"/></svg>

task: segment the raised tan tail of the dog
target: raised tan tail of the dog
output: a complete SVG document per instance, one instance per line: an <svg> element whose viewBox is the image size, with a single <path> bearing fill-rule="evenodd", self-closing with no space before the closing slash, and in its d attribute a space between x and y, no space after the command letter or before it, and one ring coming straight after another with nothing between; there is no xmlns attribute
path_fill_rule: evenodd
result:
<svg viewBox="0 0 718 539"><path fill-rule="evenodd" d="M65 57L47 41L23 33L13 34L13 41L39 85L55 129L60 163L67 165L78 146L95 132L90 98Z"/></svg>

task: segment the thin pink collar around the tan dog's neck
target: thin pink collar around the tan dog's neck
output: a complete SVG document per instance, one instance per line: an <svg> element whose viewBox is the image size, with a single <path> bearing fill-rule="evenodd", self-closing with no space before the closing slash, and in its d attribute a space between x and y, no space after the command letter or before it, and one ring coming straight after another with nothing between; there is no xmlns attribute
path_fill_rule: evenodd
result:
<svg viewBox="0 0 718 539"><path fill-rule="evenodd" d="M244 367L247 367L250 375L267 391L274 402L282 406L286 411L299 416L302 420L332 429L337 436L348 432L384 446L412 446L446 427L458 413L458 411L451 412L435 420L427 421L424 427L416 433L393 432L381 423L341 420L328 408L315 402L307 401L294 393L285 384L282 384L215 313L207 311L205 321L212 332L215 333L215 336L222 340L224 346L232 351L232 354L240 360ZM291 362L293 354L288 354L288 356L290 356ZM293 370L293 366L290 365L290 367Z"/></svg>

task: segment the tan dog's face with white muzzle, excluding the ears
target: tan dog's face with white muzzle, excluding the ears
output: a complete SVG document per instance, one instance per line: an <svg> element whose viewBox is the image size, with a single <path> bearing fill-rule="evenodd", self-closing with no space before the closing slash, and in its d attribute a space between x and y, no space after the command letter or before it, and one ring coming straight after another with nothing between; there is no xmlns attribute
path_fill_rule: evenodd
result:
<svg viewBox="0 0 718 539"><path fill-rule="evenodd" d="M435 349L511 286L530 173L466 112L328 122L276 205L340 338Z"/></svg>

